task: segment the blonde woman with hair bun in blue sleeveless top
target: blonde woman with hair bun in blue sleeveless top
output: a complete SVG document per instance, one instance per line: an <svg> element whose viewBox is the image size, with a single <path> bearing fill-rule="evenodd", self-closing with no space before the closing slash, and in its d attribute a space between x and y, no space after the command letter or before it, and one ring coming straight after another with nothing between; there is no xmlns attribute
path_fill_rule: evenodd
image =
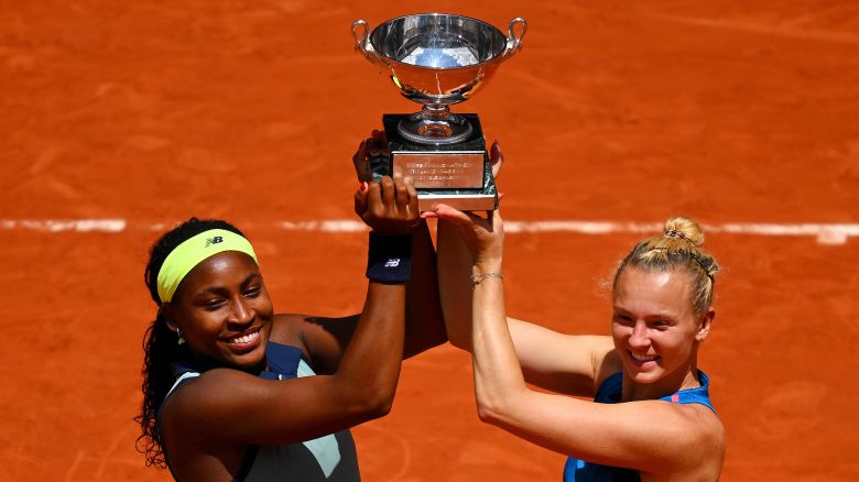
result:
<svg viewBox="0 0 859 482"><path fill-rule="evenodd" d="M697 363L719 267L695 221L668 219L622 259L610 336L570 336L507 318L498 211L439 205L423 216L441 220L447 335L474 353L481 420L568 456L568 482L719 479L725 429Z"/></svg>

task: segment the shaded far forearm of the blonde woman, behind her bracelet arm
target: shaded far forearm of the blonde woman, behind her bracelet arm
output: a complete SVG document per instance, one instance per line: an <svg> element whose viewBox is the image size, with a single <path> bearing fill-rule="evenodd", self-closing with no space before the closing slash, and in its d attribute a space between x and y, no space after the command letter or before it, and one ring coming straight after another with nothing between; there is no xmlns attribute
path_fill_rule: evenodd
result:
<svg viewBox="0 0 859 482"><path fill-rule="evenodd" d="M452 223L438 220L438 292L447 339L464 350L471 349L471 304L469 286L471 253Z"/></svg>

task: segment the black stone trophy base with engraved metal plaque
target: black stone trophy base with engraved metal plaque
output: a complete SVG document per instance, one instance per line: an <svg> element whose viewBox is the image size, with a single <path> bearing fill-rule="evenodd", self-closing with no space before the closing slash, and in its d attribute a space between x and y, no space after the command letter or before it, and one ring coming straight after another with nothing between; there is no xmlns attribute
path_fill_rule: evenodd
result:
<svg viewBox="0 0 859 482"><path fill-rule="evenodd" d="M433 145L411 142L400 133L401 121L411 114L382 116L391 156L370 160L373 175L411 177L422 211L439 202L464 211L494 210L498 190L480 120L474 113L457 116L468 121L470 134L459 142Z"/></svg>

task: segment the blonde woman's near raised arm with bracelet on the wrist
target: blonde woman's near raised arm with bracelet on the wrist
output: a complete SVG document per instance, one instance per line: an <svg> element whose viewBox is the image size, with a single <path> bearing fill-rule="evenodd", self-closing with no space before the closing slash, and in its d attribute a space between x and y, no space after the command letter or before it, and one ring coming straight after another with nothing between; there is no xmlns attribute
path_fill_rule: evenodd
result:
<svg viewBox="0 0 859 482"><path fill-rule="evenodd" d="M482 220L446 207L438 215L457 224L474 253L472 361L483 421L564 454L653 473L700 461L718 445L718 430L699 429L715 420L703 406L605 405L530 390L508 329L503 280L494 275L502 270L500 216Z"/></svg>

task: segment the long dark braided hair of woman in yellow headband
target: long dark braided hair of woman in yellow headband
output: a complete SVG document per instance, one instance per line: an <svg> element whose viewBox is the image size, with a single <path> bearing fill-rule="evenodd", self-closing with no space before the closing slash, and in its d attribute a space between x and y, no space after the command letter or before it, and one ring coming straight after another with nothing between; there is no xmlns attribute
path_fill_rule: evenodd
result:
<svg viewBox="0 0 859 482"><path fill-rule="evenodd" d="M167 255L185 240L210 229L225 229L237 234L242 234L235 226L217 219L191 218L174 229L164 233L152 244L149 263L143 273L143 282L149 288L149 294L155 305L159 306L155 320L146 328L143 335L143 404L141 414L134 417L143 431L137 440L138 451L146 457L146 465L165 468L164 438L157 424L157 413L164 397L175 382L170 371L170 363L192 358L187 344L178 344L176 333L167 327L161 313L161 298L159 297L157 276L161 265Z"/></svg>

